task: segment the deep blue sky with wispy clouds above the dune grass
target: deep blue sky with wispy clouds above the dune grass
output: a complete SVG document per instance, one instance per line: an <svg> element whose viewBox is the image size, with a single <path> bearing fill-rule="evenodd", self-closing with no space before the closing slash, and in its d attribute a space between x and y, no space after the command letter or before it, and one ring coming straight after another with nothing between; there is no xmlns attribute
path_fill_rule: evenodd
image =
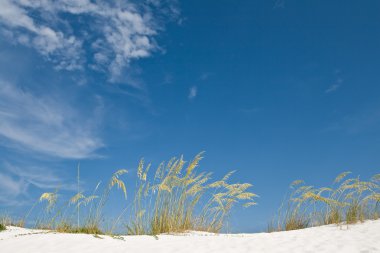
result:
<svg viewBox="0 0 380 253"><path fill-rule="evenodd" d="M264 229L295 179L379 172L378 1L1 0L0 207L206 151ZM128 188L128 185L127 185ZM117 206L117 200L112 205Z"/></svg>

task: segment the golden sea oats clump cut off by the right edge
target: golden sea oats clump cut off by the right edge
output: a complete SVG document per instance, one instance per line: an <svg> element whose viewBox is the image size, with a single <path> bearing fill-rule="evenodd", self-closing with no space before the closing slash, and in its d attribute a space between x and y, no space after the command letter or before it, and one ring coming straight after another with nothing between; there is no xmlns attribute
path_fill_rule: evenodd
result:
<svg viewBox="0 0 380 253"><path fill-rule="evenodd" d="M300 229L327 224L353 224L380 217L380 174L368 181L338 175L330 187L315 188L302 180L291 184L291 194L268 231Z"/></svg>

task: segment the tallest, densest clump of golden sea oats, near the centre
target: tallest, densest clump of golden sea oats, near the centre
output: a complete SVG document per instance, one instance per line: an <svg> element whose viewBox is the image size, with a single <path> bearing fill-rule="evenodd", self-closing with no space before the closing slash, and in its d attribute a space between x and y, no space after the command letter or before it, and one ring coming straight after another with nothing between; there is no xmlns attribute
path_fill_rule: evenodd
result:
<svg viewBox="0 0 380 253"><path fill-rule="evenodd" d="M212 182L211 173L197 171L201 159L202 153L190 163L182 157L161 163L151 180L150 164L144 166L141 160L128 234L219 232L235 204L256 204L257 195L248 191L251 184L229 184L233 172Z"/></svg>

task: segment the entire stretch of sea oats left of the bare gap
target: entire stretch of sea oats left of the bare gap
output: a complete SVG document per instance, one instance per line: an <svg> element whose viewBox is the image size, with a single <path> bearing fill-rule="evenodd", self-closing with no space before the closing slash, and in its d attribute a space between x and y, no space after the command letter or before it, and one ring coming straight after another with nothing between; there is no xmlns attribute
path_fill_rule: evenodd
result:
<svg viewBox="0 0 380 253"><path fill-rule="evenodd" d="M64 233L114 235L117 229L131 235L156 235L188 230L219 232L226 224L235 205L255 205L256 194L248 183L229 183L234 171L219 180L199 171L203 153L191 162L183 157L161 163L154 173L142 159L137 167L133 198L127 199L125 176L121 169L111 175L108 184L100 182L86 193L80 190L80 169L77 170L77 191L62 199L59 190L44 192L24 216L34 227ZM104 209L113 189L122 192L126 208L111 222ZM128 201L130 202L129 204ZM29 222L30 224L30 222ZM107 226L105 226L107 224Z"/></svg>

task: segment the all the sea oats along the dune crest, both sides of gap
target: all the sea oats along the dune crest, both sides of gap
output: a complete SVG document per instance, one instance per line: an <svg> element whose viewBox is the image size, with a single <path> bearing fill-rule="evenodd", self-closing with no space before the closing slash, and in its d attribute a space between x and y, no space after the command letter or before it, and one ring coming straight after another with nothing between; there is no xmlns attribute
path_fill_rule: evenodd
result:
<svg viewBox="0 0 380 253"><path fill-rule="evenodd" d="M220 179L200 169L203 153L187 162L181 156L162 162L155 170L141 159L136 169L134 195L127 198L125 179L128 171L117 170L106 184L99 182L90 192L80 189L67 199L56 189L44 192L18 222L1 216L0 224L23 226L62 233L157 235L191 230L218 233L226 228L236 206L256 205L258 195L249 183L230 183L235 171ZM118 190L125 208L120 215L107 219L104 215L110 194ZM291 183L277 214L268 224L268 232L303 229L328 224L353 224L380 217L380 174L369 180L338 175L332 184L315 187L303 180Z"/></svg>

